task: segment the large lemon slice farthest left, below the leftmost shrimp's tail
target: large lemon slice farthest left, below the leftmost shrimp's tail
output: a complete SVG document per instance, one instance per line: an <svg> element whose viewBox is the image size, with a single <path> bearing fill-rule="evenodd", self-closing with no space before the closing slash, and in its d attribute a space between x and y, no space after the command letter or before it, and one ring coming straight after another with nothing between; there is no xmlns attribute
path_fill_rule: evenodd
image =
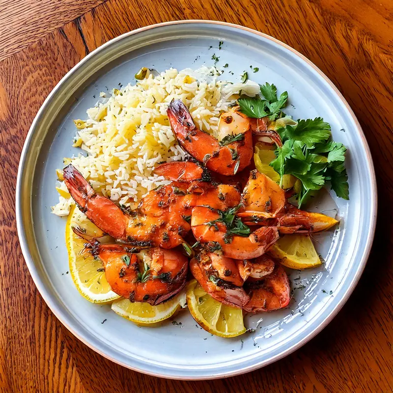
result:
<svg viewBox="0 0 393 393"><path fill-rule="evenodd" d="M72 227L79 226L86 233L100 237L103 232L90 222L77 206L71 207L65 227L65 242L68 250L70 273L80 294L92 303L106 303L120 296L111 290L105 277L102 262L90 253L82 253L84 239L77 236Z"/></svg>

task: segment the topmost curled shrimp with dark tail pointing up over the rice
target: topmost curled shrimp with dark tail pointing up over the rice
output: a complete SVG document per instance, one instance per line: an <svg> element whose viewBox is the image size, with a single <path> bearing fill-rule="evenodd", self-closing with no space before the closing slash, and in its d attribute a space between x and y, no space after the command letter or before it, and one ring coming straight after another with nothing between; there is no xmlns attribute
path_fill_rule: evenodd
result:
<svg viewBox="0 0 393 393"><path fill-rule="evenodd" d="M247 116L233 111L223 113L221 117L225 118L227 124L227 139L219 142L197 129L181 100L172 100L167 113L177 140L195 159L204 163L206 168L229 176L250 165L253 134Z"/></svg>

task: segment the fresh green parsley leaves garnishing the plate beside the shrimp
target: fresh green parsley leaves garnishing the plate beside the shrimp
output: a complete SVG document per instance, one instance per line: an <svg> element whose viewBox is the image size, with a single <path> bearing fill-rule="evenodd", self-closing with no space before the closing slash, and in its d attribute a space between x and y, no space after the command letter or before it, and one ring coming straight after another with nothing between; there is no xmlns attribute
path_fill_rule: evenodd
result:
<svg viewBox="0 0 393 393"><path fill-rule="evenodd" d="M268 83L260 86L260 92L263 98L259 95L239 98L240 111L249 117L268 117L270 121L283 117L285 113L281 109L286 105L288 93L284 91L277 97L277 87ZM329 123L316 117L298 120L296 126L276 126L276 131L282 146L277 147L276 158L270 165L281 176L280 186L284 174L300 180L296 195L299 208L327 181L337 197L349 199L344 166L346 147L331 140Z"/></svg>

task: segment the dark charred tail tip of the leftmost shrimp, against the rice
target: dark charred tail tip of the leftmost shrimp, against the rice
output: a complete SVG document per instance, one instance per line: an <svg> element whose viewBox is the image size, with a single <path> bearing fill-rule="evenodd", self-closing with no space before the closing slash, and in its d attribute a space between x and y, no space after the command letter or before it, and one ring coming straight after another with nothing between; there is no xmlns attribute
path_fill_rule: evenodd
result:
<svg viewBox="0 0 393 393"><path fill-rule="evenodd" d="M82 176L82 173L72 164L67 165L63 169L63 177L65 185L75 202L81 209L86 207L87 200L94 194L93 187Z"/></svg>

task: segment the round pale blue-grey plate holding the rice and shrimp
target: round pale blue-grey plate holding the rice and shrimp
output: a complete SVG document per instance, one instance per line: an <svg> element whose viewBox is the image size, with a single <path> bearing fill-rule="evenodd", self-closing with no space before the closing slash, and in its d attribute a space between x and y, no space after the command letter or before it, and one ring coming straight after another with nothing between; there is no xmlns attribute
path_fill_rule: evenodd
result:
<svg viewBox="0 0 393 393"><path fill-rule="evenodd" d="M219 49L219 41L223 41ZM246 318L255 331L212 337L188 312L158 329L138 328L84 300L68 272L65 220L51 214L57 201L56 168L74 153L72 119L84 118L100 91L135 82L142 66L160 71L198 68L219 57L222 78L268 81L287 90L288 114L322 116L335 141L348 147L350 201L334 198L341 222L324 233L318 252L323 267L292 271L294 300L287 309ZM252 67L259 71L253 73ZM233 73L233 75L232 75ZM57 318L90 348L134 370L176 379L242 374L288 355L325 327L346 302L365 267L376 221L376 183L370 152L354 113L337 88L304 56L260 32L211 21L179 21L123 34L78 63L56 85L37 113L22 151L16 213L19 239L30 274ZM329 199L329 198L328 198ZM322 203L318 208L331 207ZM334 204L334 207L335 207ZM103 321L105 320L105 323ZM181 324L179 323L181 322Z"/></svg>

